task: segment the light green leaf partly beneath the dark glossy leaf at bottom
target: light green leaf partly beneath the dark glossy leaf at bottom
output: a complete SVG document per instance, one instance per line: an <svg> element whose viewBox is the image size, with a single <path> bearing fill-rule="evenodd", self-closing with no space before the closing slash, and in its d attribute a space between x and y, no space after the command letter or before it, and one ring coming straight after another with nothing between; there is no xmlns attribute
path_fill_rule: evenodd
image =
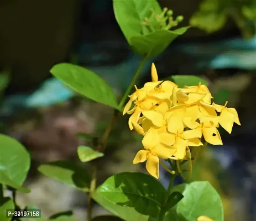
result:
<svg viewBox="0 0 256 221"><path fill-rule="evenodd" d="M158 218L154 219L149 217L149 215L143 215L133 207L123 207L119 204L112 203L111 201L108 201L108 199L100 196L100 194L93 193L92 198L102 207L104 207L108 211L112 212L113 214L117 215L118 217L121 217L126 221L134 221L134 220L149 221L149 219L150 221L158 221Z"/></svg>

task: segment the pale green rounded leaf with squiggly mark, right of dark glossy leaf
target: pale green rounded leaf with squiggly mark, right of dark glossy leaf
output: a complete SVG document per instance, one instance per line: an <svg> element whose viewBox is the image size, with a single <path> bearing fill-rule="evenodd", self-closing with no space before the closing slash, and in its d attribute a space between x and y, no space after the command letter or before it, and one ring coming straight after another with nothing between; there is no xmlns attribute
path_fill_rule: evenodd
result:
<svg viewBox="0 0 256 221"><path fill-rule="evenodd" d="M184 189L184 198L177 203L177 213L188 221L195 221L206 215L215 221L223 221L223 206L217 191L207 181L196 181L174 187L173 191Z"/></svg>

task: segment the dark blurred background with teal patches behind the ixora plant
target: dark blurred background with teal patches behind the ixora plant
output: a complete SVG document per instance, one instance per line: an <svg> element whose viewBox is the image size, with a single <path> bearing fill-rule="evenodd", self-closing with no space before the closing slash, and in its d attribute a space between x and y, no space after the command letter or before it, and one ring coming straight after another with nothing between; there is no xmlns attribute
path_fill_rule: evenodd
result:
<svg viewBox="0 0 256 221"><path fill-rule="evenodd" d="M221 194L225 220L256 220L256 1L159 3L184 16L180 25L198 28L151 59L139 83L150 80L154 61L160 78L201 76L216 103L228 100L237 109L242 127L234 126L232 135L221 131L224 145L209 146L191 181L211 182ZM129 49L111 0L1 0L0 51L0 132L22 142L32 156L26 183L32 192L19 193L17 200L41 208L45 217L73 210L77 220L84 220L86 194L40 175L36 168L48 161L79 161L76 148L86 141L76 133L101 135L112 111L73 93L49 70L59 62L87 67L120 96L141 58ZM114 127L98 183L118 172L145 172L143 165L132 164L141 138L129 132L127 120L123 117ZM168 185L169 175L161 171L160 181ZM95 205L95 215L106 213Z"/></svg>

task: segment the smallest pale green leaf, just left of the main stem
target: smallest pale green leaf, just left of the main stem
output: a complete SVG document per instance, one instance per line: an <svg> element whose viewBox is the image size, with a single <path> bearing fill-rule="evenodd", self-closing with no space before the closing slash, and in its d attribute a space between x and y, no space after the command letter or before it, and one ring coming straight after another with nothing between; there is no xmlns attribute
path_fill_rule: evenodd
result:
<svg viewBox="0 0 256 221"><path fill-rule="evenodd" d="M88 162L98 157L104 156L103 152L93 150L89 146L79 146L77 148L77 154L82 162Z"/></svg>

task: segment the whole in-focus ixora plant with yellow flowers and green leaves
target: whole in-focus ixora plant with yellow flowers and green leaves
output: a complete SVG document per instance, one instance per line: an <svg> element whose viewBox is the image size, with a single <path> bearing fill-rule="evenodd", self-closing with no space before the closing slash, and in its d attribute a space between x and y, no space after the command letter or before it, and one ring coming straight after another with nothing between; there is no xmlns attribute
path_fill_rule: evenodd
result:
<svg viewBox="0 0 256 221"><path fill-rule="evenodd" d="M182 17L173 19L171 10L162 10L153 0L116 0L113 7L128 44L143 57L138 70L118 102L111 87L96 73L72 64L55 65L50 70L55 77L83 96L112 107L113 115L105 133L97 140L88 134L79 134L93 139L95 144L77 148L79 159L90 163L91 171L66 161L49 162L38 170L88 193L88 221L223 221L221 198L210 183L197 181L177 186L173 183L177 175L189 180L192 167L207 143L222 144L219 126L231 133L233 123L241 125L236 110L228 108L227 103L224 106L212 103L207 82L199 77L172 76L172 81L159 80L154 64L151 66L152 81L140 89L135 86L132 91L149 57L163 52L189 27L170 30ZM97 158L104 157L108 136L122 113L131 114L128 120L130 130L143 136L143 148L134 153L133 164L147 161L145 166L149 174L122 172L97 187ZM22 144L6 135L0 135L0 152L0 220L8 221L13 218L7 217L7 209L36 211L33 206L20 208L15 202L16 191L29 192L23 183L30 167L30 156ZM158 181L159 164L170 172L168 190ZM13 192L12 198L3 196L3 187ZM116 216L92 218L92 199ZM46 220L36 217L36 213L29 214L30 219ZM22 218L15 217L15 220L22 220L24 216L23 213ZM74 220L74 217L61 213L49 219Z"/></svg>

